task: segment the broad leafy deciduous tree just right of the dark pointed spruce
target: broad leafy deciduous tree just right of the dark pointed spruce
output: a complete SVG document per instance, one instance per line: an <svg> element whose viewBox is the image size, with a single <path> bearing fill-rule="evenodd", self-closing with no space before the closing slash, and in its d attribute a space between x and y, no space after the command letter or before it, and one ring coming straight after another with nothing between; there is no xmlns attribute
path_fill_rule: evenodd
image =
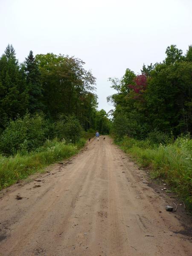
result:
<svg viewBox="0 0 192 256"><path fill-rule="evenodd" d="M41 72L45 113L52 120L61 115L76 115L88 129L97 106L95 78L78 58L47 53L35 56Z"/></svg>

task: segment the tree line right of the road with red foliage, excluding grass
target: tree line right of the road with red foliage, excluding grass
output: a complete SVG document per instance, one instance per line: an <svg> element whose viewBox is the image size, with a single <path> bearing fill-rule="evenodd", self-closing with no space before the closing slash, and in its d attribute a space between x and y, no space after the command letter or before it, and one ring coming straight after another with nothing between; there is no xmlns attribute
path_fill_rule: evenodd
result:
<svg viewBox="0 0 192 256"><path fill-rule="evenodd" d="M130 69L122 79L110 78L116 93L113 102L113 133L145 139L192 132L192 46L186 54L176 45L166 49L162 63L145 66L139 75Z"/></svg>

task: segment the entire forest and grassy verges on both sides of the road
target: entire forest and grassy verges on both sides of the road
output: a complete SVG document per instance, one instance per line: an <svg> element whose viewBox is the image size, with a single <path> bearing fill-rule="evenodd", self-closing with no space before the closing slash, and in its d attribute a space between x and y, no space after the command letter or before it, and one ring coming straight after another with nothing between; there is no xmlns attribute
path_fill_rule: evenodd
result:
<svg viewBox="0 0 192 256"><path fill-rule="evenodd" d="M192 46L183 54L171 45L162 62L109 81L115 108L106 113L84 61L30 51L19 63L8 45L0 58L0 189L76 154L98 130L192 205Z"/></svg>

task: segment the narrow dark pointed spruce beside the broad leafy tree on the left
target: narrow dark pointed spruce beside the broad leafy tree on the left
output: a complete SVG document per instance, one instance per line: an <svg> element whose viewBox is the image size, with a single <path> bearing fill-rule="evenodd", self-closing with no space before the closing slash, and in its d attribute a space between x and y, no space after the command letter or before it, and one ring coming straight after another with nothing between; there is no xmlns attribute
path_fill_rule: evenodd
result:
<svg viewBox="0 0 192 256"><path fill-rule="evenodd" d="M29 111L34 113L35 111L42 110L44 105L42 104L42 87L41 87L41 73L38 69L38 64L35 61L33 52L30 51L26 58L26 83L29 93Z"/></svg>

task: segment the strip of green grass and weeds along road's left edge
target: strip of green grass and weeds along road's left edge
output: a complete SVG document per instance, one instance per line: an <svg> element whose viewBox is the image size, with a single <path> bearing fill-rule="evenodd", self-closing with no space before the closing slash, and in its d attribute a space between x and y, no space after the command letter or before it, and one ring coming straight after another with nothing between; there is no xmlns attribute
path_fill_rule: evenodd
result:
<svg viewBox="0 0 192 256"><path fill-rule="evenodd" d="M65 144L52 140L30 153L20 152L12 157L0 155L0 189L41 171L49 164L73 156L85 142L85 139L81 139L76 144Z"/></svg>

